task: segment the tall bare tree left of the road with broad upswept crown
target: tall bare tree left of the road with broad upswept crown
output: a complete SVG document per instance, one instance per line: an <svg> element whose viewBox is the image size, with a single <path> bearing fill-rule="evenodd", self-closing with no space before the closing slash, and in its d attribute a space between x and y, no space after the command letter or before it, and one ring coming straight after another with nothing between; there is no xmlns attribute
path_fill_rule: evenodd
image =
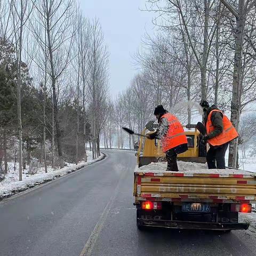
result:
<svg viewBox="0 0 256 256"><path fill-rule="evenodd" d="M38 23L42 30L46 31L46 47L50 67L47 72L51 78L53 100L52 118L54 119L56 129L60 167L63 168L64 161L61 146L61 131L58 109L58 97L60 95L58 81L70 63L71 46L73 45L75 35L72 20L74 18L74 1L40 0L36 2L35 8L39 17ZM34 33L35 31L36 30L34 30ZM42 38L39 31L37 33L37 37ZM43 43L43 40L41 40L41 42Z"/></svg>

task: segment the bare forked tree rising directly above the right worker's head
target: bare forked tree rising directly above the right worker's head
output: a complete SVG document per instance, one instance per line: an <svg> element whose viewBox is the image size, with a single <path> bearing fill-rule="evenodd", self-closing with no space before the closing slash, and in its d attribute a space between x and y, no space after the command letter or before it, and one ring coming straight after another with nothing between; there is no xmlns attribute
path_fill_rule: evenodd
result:
<svg viewBox="0 0 256 256"><path fill-rule="evenodd" d="M215 35L215 27L211 26L210 12L214 1L180 1L167 0L166 5L159 4L161 1L148 0L156 6L160 13L159 17L169 14L168 22L161 23L161 27L183 27L188 43L195 55L197 65L201 71L201 98L207 98L207 62L209 52ZM153 7L154 9L154 7ZM155 10L155 9L154 9ZM203 15L202 15L203 13ZM179 22L177 22L177 19ZM178 23L178 24L177 24ZM200 30L195 30L195 24L199 24ZM203 37L201 36L203 34ZM202 54L198 54L202 52Z"/></svg>

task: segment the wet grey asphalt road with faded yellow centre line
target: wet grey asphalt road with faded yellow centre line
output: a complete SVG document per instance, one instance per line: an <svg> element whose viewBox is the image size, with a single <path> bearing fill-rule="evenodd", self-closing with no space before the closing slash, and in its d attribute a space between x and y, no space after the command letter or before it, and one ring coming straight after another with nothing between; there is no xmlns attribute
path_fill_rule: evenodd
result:
<svg viewBox="0 0 256 256"><path fill-rule="evenodd" d="M0 255L256 255L251 231L137 230L135 157L106 153L103 161L0 203Z"/></svg>

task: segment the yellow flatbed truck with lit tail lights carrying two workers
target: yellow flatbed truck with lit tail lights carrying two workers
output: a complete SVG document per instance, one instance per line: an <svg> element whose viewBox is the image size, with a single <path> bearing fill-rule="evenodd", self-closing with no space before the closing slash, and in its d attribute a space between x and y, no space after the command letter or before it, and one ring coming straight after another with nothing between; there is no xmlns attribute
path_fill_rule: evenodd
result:
<svg viewBox="0 0 256 256"><path fill-rule="evenodd" d="M189 134L191 131L188 137ZM198 137L197 142L195 137ZM193 139L194 149L190 151L196 154L198 131L195 131ZM249 223L239 222L238 213L250 213L252 204L256 203L256 173L234 169L166 172L139 168L148 164L139 163L142 157L147 157L147 152L151 152L151 158L154 150L159 154L158 144L147 138L140 141L133 193L139 229L164 227L229 231L249 228ZM145 148L149 145L155 149ZM143 155L140 150L143 150ZM195 160L193 154L191 159ZM188 157L187 153L184 160L188 161ZM181 157L179 159L182 160ZM202 159L199 162L202 163ZM155 166L157 168L157 164Z"/></svg>

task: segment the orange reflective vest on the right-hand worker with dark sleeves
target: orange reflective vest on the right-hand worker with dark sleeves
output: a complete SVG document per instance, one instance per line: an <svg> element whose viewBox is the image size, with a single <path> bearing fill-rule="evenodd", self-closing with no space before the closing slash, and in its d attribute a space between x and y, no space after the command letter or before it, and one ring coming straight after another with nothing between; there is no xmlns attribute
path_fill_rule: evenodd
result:
<svg viewBox="0 0 256 256"><path fill-rule="evenodd" d="M223 122L223 132L216 137L209 139L207 142L211 144L212 146L220 146L223 145L231 140L234 140L235 138L238 137L238 133L231 123L231 121L228 119L226 115L224 115L220 110L213 109L210 114L207 117L207 122L206 122L206 132L209 134L214 130L214 126L211 121L211 116L213 111L218 111L223 115L222 122Z"/></svg>

